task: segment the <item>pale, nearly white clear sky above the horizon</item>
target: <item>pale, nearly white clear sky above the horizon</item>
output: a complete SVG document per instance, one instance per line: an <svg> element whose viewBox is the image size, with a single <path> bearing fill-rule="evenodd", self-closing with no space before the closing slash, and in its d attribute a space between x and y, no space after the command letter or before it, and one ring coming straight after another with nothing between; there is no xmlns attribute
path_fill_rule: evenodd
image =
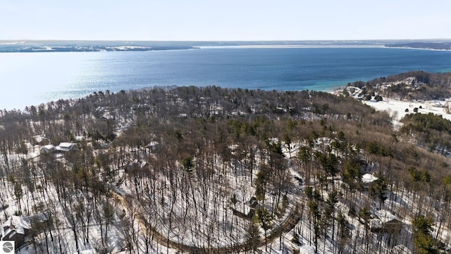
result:
<svg viewBox="0 0 451 254"><path fill-rule="evenodd" d="M0 40L451 39L447 0L0 0Z"/></svg>

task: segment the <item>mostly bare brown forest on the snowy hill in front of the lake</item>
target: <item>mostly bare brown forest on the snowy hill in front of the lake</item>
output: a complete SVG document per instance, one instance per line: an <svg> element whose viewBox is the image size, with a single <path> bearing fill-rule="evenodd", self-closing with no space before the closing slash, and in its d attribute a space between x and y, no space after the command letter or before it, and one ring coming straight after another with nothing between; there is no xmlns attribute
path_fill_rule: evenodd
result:
<svg viewBox="0 0 451 254"><path fill-rule="evenodd" d="M3 110L2 234L21 220L18 253L448 253L451 123L392 121L214 86Z"/></svg>

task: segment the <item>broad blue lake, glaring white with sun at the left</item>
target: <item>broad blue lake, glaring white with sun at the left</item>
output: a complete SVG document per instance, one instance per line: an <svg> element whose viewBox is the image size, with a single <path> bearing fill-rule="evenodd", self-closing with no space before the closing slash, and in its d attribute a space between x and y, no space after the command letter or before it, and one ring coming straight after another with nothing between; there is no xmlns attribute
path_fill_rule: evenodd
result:
<svg viewBox="0 0 451 254"><path fill-rule="evenodd" d="M0 109L156 85L329 91L404 71L451 71L451 52L389 48L204 48L0 54Z"/></svg>

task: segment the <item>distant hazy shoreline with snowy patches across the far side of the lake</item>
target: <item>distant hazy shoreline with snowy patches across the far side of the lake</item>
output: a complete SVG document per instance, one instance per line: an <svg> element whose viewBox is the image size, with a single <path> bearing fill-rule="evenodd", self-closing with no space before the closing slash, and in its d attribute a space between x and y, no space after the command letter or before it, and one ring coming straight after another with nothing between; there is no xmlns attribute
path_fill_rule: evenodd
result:
<svg viewBox="0 0 451 254"><path fill-rule="evenodd" d="M83 41L0 40L4 52L144 52L185 49L397 48L451 50L451 40Z"/></svg>

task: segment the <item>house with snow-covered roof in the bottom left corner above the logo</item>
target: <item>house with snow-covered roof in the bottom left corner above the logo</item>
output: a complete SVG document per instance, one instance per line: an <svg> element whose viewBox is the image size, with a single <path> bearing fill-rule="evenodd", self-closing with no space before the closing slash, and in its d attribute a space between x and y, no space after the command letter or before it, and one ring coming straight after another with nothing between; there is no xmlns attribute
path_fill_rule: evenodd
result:
<svg viewBox="0 0 451 254"><path fill-rule="evenodd" d="M9 217L1 226L1 241L14 241L16 248L25 242L25 236L30 234L30 220L24 217Z"/></svg>

